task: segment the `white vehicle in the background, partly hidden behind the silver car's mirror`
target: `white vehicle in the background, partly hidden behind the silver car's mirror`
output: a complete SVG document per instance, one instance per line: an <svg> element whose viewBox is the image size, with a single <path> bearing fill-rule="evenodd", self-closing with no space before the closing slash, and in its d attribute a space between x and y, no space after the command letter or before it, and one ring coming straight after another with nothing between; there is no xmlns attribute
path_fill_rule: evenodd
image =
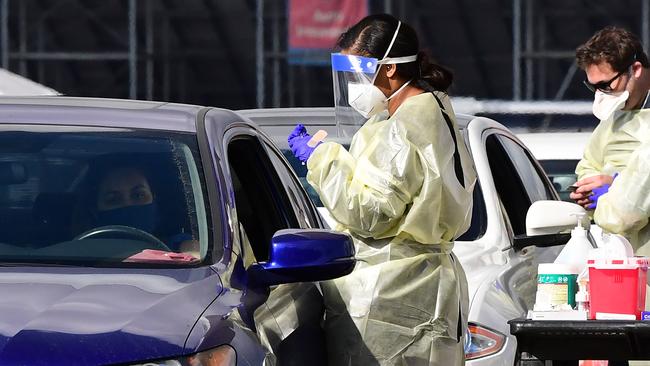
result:
<svg viewBox="0 0 650 366"><path fill-rule="evenodd" d="M544 168L546 175L560 194L569 198L569 186L576 182L575 169L582 159L591 132L536 132L518 133L517 137L530 149Z"/></svg>

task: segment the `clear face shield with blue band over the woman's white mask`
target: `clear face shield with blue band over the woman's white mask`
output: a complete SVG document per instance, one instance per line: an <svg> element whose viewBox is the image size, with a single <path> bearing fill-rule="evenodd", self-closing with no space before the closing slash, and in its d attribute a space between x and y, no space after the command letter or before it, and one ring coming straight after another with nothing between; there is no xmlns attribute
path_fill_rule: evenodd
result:
<svg viewBox="0 0 650 366"><path fill-rule="evenodd" d="M385 111L388 100L402 91L410 80L404 83L389 97L377 88L374 83L380 65L400 64L417 61L417 55L404 57L388 57L393 43L397 38L401 22L388 45L381 60L372 57L355 55L332 54L332 73L334 80L334 107L337 124L360 126L368 118ZM339 128L340 130L340 128Z"/></svg>

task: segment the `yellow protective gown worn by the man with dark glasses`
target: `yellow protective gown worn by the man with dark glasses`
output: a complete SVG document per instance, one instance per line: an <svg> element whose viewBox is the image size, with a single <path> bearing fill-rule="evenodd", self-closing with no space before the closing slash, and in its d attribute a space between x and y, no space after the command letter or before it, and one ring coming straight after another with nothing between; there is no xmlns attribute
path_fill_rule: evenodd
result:
<svg viewBox="0 0 650 366"><path fill-rule="evenodd" d="M625 236L634 254L650 256L650 94L643 109L614 113L601 121L576 167L578 179L619 173L609 191L598 199L594 222L606 231ZM650 281L650 278L648 279ZM650 282L646 287L650 304ZM630 365L648 365L629 361Z"/></svg>

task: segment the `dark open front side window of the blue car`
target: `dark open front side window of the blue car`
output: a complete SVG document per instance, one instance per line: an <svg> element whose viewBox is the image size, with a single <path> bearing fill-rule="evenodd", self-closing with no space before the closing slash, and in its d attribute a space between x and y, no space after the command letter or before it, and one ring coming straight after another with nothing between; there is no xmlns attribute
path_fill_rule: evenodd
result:
<svg viewBox="0 0 650 366"><path fill-rule="evenodd" d="M298 219L266 150L255 136L235 136L228 143L228 163L239 224L256 261L269 259L276 231L299 227Z"/></svg>

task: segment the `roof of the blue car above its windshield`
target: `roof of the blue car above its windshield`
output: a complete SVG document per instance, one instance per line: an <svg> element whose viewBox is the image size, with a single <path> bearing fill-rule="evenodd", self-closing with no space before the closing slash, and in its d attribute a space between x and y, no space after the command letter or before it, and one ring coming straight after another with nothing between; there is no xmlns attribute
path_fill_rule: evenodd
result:
<svg viewBox="0 0 650 366"><path fill-rule="evenodd" d="M125 127L196 132L204 107L127 99L0 97L0 124Z"/></svg>

